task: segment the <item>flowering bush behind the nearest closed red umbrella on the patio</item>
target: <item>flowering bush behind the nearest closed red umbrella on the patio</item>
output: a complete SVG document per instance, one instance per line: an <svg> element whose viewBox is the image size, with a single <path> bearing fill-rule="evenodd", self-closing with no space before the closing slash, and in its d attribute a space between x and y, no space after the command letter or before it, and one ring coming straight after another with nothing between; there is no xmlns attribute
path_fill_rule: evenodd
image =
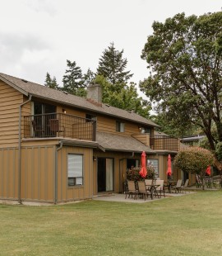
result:
<svg viewBox="0 0 222 256"><path fill-rule="evenodd" d="M153 167L153 165L149 164L146 166L146 177L142 178L141 174L141 167L134 167L134 168L130 168L127 169L127 180L130 181L142 181L144 179L154 179L155 178L155 168Z"/></svg>

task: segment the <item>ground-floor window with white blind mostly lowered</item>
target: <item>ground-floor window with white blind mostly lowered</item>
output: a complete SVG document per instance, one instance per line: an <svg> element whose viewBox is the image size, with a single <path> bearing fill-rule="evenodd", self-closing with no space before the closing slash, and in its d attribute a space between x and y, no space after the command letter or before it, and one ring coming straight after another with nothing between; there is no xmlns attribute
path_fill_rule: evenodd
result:
<svg viewBox="0 0 222 256"><path fill-rule="evenodd" d="M68 154L68 186L83 185L83 155Z"/></svg>

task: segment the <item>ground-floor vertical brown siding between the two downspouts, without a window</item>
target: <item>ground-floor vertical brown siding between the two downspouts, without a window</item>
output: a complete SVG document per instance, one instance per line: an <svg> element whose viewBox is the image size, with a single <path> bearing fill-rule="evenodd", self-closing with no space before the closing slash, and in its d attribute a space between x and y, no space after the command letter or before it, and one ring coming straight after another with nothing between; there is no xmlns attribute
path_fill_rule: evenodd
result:
<svg viewBox="0 0 222 256"><path fill-rule="evenodd" d="M55 146L21 149L21 200L54 200Z"/></svg>

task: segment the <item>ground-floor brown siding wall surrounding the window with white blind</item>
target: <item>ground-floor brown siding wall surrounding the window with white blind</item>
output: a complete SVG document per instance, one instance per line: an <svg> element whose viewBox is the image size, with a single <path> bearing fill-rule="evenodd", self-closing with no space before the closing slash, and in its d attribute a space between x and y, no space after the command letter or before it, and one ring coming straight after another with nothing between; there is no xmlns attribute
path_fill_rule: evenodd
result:
<svg viewBox="0 0 222 256"><path fill-rule="evenodd" d="M83 155L83 185L67 185L67 154ZM93 149L63 146L58 150L58 202L92 198Z"/></svg>

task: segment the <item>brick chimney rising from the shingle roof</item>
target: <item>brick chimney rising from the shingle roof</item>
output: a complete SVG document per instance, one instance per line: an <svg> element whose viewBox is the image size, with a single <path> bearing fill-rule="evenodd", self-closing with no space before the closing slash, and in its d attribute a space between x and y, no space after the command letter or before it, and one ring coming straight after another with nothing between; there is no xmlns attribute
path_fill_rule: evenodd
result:
<svg viewBox="0 0 222 256"><path fill-rule="evenodd" d="M90 83L87 88L87 100L102 107L102 88L99 83Z"/></svg>

